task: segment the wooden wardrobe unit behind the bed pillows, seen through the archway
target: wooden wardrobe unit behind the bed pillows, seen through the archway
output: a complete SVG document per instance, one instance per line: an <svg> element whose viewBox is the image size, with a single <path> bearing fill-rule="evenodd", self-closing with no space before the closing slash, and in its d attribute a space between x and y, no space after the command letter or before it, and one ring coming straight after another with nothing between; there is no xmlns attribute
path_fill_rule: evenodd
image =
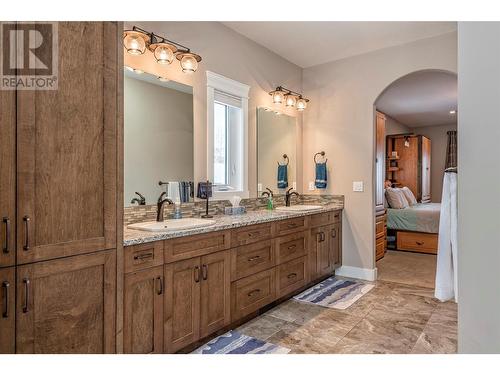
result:
<svg viewBox="0 0 500 375"><path fill-rule="evenodd" d="M418 202L429 203L431 140L423 135L387 136L386 149L386 178L396 187L408 186Z"/></svg>

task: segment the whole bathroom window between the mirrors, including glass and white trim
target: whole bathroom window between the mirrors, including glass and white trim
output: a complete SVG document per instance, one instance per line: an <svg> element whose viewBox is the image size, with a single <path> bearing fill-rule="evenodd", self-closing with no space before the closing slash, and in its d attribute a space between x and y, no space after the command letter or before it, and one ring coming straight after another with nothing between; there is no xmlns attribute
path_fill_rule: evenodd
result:
<svg viewBox="0 0 500 375"><path fill-rule="evenodd" d="M207 172L214 197L248 197L247 85L207 72Z"/></svg>

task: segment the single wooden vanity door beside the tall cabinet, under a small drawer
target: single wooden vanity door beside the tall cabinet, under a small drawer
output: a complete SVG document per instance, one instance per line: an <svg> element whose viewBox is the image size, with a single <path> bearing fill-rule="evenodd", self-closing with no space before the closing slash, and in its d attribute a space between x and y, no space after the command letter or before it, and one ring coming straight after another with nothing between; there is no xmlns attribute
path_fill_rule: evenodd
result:
<svg viewBox="0 0 500 375"><path fill-rule="evenodd" d="M125 276L125 353L163 353L164 290L163 266Z"/></svg>

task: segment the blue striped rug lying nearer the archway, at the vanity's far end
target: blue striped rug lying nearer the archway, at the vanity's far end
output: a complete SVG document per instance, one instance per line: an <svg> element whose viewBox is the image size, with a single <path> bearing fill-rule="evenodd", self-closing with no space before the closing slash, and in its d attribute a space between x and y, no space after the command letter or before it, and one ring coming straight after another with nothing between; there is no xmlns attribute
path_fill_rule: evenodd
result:
<svg viewBox="0 0 500 375"><path fill-rule="evenodd" d="M373 289L375 285L330 277L293 297L296 301L344 310Z"/></svg>

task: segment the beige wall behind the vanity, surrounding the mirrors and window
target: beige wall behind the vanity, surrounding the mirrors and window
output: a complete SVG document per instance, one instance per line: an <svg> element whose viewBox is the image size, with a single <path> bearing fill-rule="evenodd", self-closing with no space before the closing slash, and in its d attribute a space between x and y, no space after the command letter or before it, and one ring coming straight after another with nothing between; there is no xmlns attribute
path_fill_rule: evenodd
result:
<svg viewBox="0 0 500 375"><path fill-rule="evenodd" d="M187 45L200 54L203 61L198 71L192 75L182 73L178 61L165 67L156 63L147 52L142 56L125 53L124 63L135 68L188 84L194 94L194 176L195 181L206 179L206 70L250 85L249 99L249 164L248 183L250 196L257 190L256 154L256 109L272 107L268 92L283 85L295 91L302 89L302 69L286 61L270 50L245 38L218 22L137 22L126 25L143 27L146 30ZM284 111L283 108L276 108ZM286 111L285 111L286 112ZM296 111L289 111L297 116ZM298 126L302 126L302 116L298 115ZM300 132L301 133L301 132ZM301 137L298 138L300 144ZM300 160L301 155L297 155ZM297 170L297 185L302 186L302 170Z"/></svg>

